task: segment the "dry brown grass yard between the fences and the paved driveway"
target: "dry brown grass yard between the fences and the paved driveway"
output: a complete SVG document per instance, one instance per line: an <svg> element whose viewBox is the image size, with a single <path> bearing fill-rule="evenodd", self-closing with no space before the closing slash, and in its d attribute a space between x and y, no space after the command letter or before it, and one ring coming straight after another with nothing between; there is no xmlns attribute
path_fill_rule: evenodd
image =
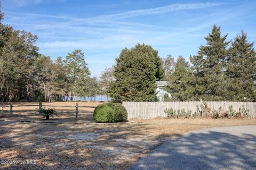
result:
<svg viewBox="0 0 256 170"><path fill-rule="evenodd" d="M29 117L41 120L41 117L25 116ZM256 119L154 119L99 124L93 122L90 114L78 121L74 118L53 121L66 123L0 121L0 160L37 162L36 165L0 165L0 169L127 169L174 135L216 126L256 125ZM77 134L97 137L77 140L73 138Z"/></svg>

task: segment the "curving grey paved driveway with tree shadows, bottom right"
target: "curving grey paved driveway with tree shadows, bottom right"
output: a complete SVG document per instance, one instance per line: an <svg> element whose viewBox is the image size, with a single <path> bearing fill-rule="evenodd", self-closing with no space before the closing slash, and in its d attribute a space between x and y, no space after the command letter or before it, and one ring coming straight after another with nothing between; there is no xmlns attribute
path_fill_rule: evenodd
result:
<svg viewBox="0 0 256 170"><path fill-rule="evenodd" d="M256 169L256 126L183 133L139 159L130 169Z"/></svg>

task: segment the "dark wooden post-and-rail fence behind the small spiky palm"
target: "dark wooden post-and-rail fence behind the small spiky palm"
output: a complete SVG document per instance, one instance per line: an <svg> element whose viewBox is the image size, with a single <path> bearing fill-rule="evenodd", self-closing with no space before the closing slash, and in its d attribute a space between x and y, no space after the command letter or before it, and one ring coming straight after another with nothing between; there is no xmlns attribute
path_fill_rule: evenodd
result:
<svg viewBox="0 0 256 170"><path fill-rule="evenodd" d="M42 107L75 107L75 117L78 118L78 113L79 113L79 107L86 107L86 108L95 108L95 106L78 106L78 103L76 103L76 106L56 106L56 105L43 105L42 102L39 102L38 105L4 105L4 107L9 107L10 106L10 111L4 111L4 112L9 112L12 116L13 112L36 112L39 111L39 109L42 109ZM31 106L38 106L38 110L13 110L13 107L31 107ZM86 113L93 113L90 111L82 111Z"/></svg>

